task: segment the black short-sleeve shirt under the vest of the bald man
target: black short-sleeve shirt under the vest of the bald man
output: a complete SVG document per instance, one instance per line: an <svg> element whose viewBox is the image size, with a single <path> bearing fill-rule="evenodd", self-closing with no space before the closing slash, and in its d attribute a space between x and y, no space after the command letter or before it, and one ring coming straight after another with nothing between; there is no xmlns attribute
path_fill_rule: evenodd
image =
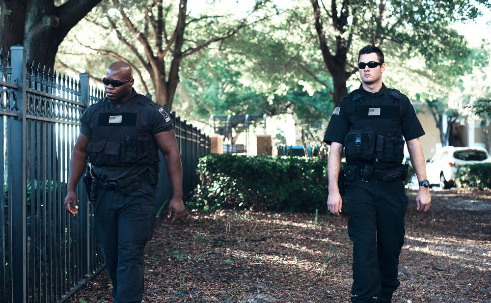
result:
<svg viewBox="0 0 491 303"><path fill-rule="evenodd" d="M81 127L80 133L86 137L92 137L92 129L97 124L97 117L99 112L110 113L122 113L126 112L126 108L131 102L145 101L147 104L141 111L141 119L145 121L142 123L142 127L145 127L144 133L158 134L165 131L174 129L170 113L162 108L160 105L155 104L147 97L138 94L133 89L133 94L123 105L118 109L112 101L108 98L101 99L97 104L90 106L80 117ZM130 175L138 175L147 170L149 165L129 165L129 166L94 166L94 172L100 178L104 180L117 180Z"/></svg>

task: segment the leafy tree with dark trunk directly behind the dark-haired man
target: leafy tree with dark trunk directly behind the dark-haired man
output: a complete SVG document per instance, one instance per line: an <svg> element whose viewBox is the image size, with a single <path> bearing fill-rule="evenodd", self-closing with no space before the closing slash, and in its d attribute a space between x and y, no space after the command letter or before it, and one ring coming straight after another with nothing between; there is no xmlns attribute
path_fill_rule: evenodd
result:
<svg viewBox="0 0 491 303"><path fill-rule="evenodd" d="M320 4L319 4L320 2ZM400 59L422 55L427 68L453 64L468 54L465 40L450 25L471 20L487 0L311 0L313 20L324 63L333 79L336 106L348 91L347 80L358 68L357 51L366 44Z"/></svg>

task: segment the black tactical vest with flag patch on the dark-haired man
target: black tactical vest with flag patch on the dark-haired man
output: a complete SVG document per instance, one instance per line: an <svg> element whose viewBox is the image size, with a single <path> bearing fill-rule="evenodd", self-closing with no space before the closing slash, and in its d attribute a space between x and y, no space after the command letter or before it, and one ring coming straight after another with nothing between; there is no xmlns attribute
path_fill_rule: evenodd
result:
<svg viewBox="0 0 491 303"><path fill-rule="evenodd" d="M373 104L359 91L346 96L353 104L353 124L345 137L347 163L373 163L376 168L402 163L400 94L397 89L388 89L388 95L370 98Z"/></svg>

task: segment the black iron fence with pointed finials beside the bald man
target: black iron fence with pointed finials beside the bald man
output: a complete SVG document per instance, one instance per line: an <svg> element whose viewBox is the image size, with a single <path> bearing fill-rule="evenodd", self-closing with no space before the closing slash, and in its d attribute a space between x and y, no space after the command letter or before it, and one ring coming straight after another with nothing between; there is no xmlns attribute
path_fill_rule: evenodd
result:
<svg viewBox="0 0 491 303"><path fill-rule="evenodd" d="M0 50L0 302L63 302L104 268L82 184L79 215L63 206L79 118L104 91L90 87L87 74L75 80L26 62L22 46ZM210 139L172 114L183 190L191 193ZM158 209L172 194L161 160Z"/></svg>

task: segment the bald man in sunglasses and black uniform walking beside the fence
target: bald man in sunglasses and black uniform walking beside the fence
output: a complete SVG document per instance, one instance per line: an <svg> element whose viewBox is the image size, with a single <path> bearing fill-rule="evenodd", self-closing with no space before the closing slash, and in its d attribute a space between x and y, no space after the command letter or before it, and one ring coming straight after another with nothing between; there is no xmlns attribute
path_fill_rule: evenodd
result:
<svg viewBox="0 0 491 303"><path fill-rule="evenodd" d="M152 237L159 155L164 154L173 196L168 218L183 217L182 164L170 114L132 87L132 69L112 63L103 79L107 97L90 106L70 158L65 209L78 214L75 188L87 158L95 174L93 228L112 281L114 303L140 303L143 250Z"/></svg>

